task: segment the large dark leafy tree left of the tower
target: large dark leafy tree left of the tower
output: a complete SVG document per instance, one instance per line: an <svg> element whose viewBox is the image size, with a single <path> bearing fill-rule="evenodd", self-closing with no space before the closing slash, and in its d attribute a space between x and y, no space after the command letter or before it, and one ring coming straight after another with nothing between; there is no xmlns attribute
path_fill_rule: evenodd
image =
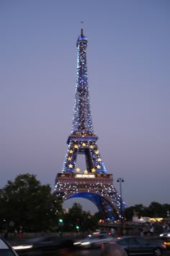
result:
<svg viewBox="0 0 170 256"><path fill-rule="evenodd" d="M56 221L61 204L50 192L50 185L41 185L36 175L18 175L0 190L0 219L14 222L24 231L49 229Z"/></svg>

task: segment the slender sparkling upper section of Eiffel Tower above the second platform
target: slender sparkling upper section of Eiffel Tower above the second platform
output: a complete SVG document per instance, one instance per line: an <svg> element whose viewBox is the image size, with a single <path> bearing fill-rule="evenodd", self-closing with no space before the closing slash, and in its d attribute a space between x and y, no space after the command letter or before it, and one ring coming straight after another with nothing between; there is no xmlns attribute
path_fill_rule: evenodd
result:
<svg viewBox="0 0 170 256"><path fill-rule="evenodd" d="M86 65L87 44L87 37L83 34L83 29L81 28L81 35L79 35L76 43L78 51L76 70L76 93L73 109L73 125L71 129L72 135L94 135L91 120L88 73Z"/></svg>

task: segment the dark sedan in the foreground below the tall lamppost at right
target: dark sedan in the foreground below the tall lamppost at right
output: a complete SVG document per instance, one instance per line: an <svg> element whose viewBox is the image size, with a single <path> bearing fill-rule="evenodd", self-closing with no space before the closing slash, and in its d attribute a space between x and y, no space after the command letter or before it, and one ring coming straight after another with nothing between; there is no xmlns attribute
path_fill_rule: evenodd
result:
<svg viewBox="0 0 170 256"><path fill-rule="evenodd" d="M161 256L166 252L166 246L162 243L151 242L142 237L117 237L115 243L122 246L128 255L155 255Z"/></svg>

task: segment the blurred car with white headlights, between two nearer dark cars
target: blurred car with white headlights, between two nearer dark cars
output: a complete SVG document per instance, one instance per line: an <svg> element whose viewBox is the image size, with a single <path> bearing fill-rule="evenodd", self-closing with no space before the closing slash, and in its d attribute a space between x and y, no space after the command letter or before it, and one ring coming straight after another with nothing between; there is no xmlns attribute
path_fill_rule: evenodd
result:
<svg viewBox="0 0 170 256"><path fill-rule="evenodd" d="M89 234L86 238L74 242L74 245L79 248L97 248L113 241L113 238L107 234Z"/></svg>

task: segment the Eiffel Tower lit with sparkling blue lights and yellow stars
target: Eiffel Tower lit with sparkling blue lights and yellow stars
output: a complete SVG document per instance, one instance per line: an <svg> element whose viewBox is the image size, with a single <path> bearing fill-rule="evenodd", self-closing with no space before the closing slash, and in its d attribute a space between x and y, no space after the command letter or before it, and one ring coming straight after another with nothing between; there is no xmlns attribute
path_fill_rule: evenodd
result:
<svg viewBox="0 0 170 256"><path fill-rule="evenodd" d="M81 29L76 43L78 55L73 125L67 141L68 151L63 169L55 179L54 195L62 201L86 198L97 206L105 219L120 219L125 203L113 185L112 174L107 174L104 167L97 147L98 137L92 125L86 65L87 44L87 37ZM76 165L79 154L85 156L85 170Z"/></svg>

